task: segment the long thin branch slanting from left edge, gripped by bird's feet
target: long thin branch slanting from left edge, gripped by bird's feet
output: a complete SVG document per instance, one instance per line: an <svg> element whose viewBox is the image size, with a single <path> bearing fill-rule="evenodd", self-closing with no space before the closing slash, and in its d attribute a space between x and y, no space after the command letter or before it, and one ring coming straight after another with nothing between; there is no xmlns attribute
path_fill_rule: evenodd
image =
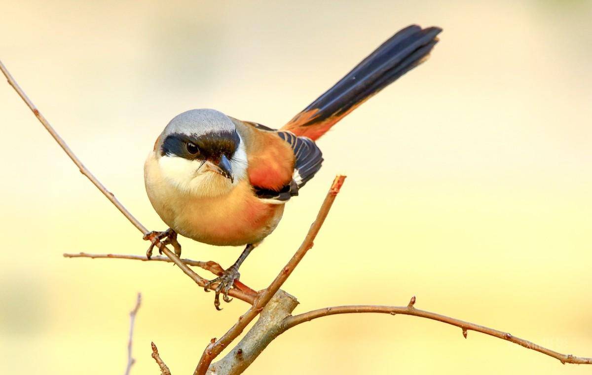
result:
<svg viewBox="0 0 592 375"><path fill-rule="evenodd" d="M66 145L66 142L64 142L62 137L60 137L59 134L57 134L56 130L54 130L53 127L49 124L49 121L47 121L47 119L43 116L43 114L40 113L40 111L37 109L37 107L35 107L33 102L31 102L31 100L27 97L27 94L25 94L25 92L22 91L20 86L17 84L17 82L14 80L14 78L12 78L12 75L8 72L8 69L4 66L4 64L2 64L1 61L0 61L0 70L2 70L2 73L4 73L4 76L7 78L8 83L12 86L12 88L15 89L15 91L21 97L21 99L25 102L25 104L27 104L27 107L29 107L29 109L31 111L33 111L33 114L35 115L35 117L37 117L37 120L39 120L41 125L43 125L43 127L45 127L47 132L49 132L49 134L51 134L53 139L56 140L57 144L60 145L60 147L64 150L64 152L69 156L69 158L72 159L72 162L74 162L74 164L76 164L76 166L78 166L79 171L83 175L85 175L92 182L92 184L94 184L95 187L98 188L98 190L100 190L101 193L103 193L103 195L105 195L105 197L107 197L107 199L115 207L117 207L118 210L120 210L120 212L123 214L123 216L125 216L128 220L130 220L130 223L132 223L138 230L140 230L140 232L142 232L143 235L147 235L149 233L149 230L147 230L146 227L144 227L142 225L142 223L140 223L139 220L137 220L130 213L130 211L128 211L126 209L126 207L124 207L123 204L121 204L121 202L118 201L117 198L115 198L115 195L113 193L111 193L110 191L108 191L107 188L105 188L105 186L103 184L101 184L101 182L99 180L97 180L97 178L91 173L91 171L89 171L82 164L82 162L80 161L80 159L78 159L78 157L75 155L75 153L72 152L72 150L68 147L68 145ZM175 253L170 251L169 248L167 248L166 246L162 245L162 243L157 242L157 246L160 249L160 251L162 251L171 261L173 261L176 265L178 265L178 267L181 268L181 270L186 275L191 277L191 279L193 281L195 281L195 283L197 283L201 287L205 287L207 280L202 278L200 275L196 274L193 270L191 270L191 268L187 267L187 265L185 265L181 261L181 259L179 259L179 257L177 257L175 255ZM212 286L212 289L214 289L214 287L215 287L215 285ZM230 296L237 297L238 299L241 299L241 300L249 302L249 303L252 303L252 300L253 300L252 296L248 296L243 291L240 291L237 289L231 289L229 294L230 294Z"/></svg>

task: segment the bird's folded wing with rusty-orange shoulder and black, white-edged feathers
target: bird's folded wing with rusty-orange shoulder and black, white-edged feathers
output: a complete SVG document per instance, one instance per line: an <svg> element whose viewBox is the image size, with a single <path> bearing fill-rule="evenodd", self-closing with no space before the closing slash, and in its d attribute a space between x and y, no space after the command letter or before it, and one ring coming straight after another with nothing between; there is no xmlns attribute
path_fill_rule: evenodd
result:
<svg viewBox="0 0 592 375"><path fill-rule="evenodd" d="M285 203L320 169L323 157L313 140L258 123L237 122L247 145L249 181L262 200Z"/></svg>

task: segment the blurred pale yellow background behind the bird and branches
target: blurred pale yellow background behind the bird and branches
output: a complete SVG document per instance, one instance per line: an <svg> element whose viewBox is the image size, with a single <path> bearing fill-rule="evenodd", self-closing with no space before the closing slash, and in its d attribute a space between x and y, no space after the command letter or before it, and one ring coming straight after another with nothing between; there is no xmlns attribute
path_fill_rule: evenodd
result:
<svg viewBox="0 0 592 375"><path fill-rule="evenodd" d="M592 355L592 2L0 0L0 58L71 148L150 229L143 161L191 108L280 127L378 44L444 28L431 59L318 143L325 162L241 268L265 287L333 176L348 180L284 289L301 305L406 305ZM2 372L173 374L247 305L217 312L172 265L65 259L147 243L0 85ZM229 266L239 248L182 239ZM211 277L200 271L204 277ZM300 358L300 359L299 359ZM296 360L296 361L295 361ZM517 345L408 316L345 315L287 332L247 373L590 373Z"/></svg>

